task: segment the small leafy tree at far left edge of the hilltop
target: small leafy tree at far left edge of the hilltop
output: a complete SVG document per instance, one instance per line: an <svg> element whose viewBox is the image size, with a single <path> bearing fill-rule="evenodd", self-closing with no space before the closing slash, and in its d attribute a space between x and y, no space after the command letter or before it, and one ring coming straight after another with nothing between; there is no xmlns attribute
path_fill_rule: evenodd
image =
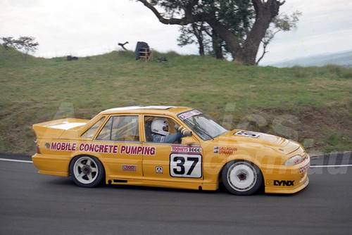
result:
<svg viewBox="0 0 352 235"><path fill-rule="evenodd" d="M38 42L34 42L34 37L23 37L20 36L18 39L13 39L13 37L2 37L3 46L6 50L9 48L14 48L17 51L21 51L25 55L25 59L27 59L27 54L37 51L37 46L39 46Z"/></svg>

